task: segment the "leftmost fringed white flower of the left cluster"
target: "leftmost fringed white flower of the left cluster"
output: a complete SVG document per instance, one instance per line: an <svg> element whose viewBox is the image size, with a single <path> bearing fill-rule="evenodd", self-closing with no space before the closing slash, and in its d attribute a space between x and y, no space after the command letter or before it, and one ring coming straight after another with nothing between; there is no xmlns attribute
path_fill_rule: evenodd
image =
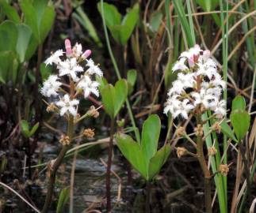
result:
<svg viewBox="0 0 256 213"><path fill-rule="evenodd" d="M61 83L58 81L59 77L55 75L51 75L48 77L48 80L44 81L43 87L40 89L42 95L50 97L51 95L56 96L58 95L59 87Z"/></svg>

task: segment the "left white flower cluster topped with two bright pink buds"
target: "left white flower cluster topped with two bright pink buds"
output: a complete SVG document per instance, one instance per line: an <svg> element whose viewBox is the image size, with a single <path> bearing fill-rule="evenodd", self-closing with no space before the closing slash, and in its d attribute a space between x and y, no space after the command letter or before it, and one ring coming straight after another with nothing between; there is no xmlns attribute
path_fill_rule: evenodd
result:
<svg viewBox="0 0 256 213"><path fill-rule="evenodd" d="M75 99L80 92L83 92L85 98L87 98L91 93L98 96L98 86L96 80L93 80L96 76L102 77L103 73L98 65L94 64L94 61L90 58L87 60L91 54L91 50L86 50L82 52L82 45L76 43L73 48L71 48L71 41L69 39L65 40L66 51L57 50L53 53L46 61L46 65L56 65L59 73L58 75L51 75L48 80L44 81L43 87L40 89L42 95L46 97L59 96L59 101L54 103L56 107L59 108L59 114L63 116L64 114L72 114L76 116L79 100ZM66 59L62 60L66 54ZM86 62L86 69L82 67L82 63ZM68 92L61 88L65 86L68 88L67 84L61 82L62 77L69 77L70 81L74 82L75 95L69 95ZM71 89L71 88L70 88Z"/></svg>

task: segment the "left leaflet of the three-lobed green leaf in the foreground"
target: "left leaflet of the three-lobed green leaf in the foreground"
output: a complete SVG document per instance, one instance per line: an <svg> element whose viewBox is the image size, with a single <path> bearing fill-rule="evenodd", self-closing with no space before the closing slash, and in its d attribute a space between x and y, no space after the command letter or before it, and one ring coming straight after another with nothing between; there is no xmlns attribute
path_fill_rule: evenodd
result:
<svg viewBox="0 0 256 213"><path fill-rule="evenodd" d="M139 144L131 136L118 133L116 135L117 146L132 166L147 179L147 163Z"/></svg>

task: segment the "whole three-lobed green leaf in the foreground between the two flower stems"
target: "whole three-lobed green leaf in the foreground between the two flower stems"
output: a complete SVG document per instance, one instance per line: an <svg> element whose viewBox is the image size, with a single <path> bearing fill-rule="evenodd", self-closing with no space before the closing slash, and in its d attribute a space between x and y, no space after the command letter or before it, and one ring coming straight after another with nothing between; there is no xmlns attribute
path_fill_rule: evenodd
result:
<svg viewBox="0 0 256 213"><path fill-rule="evenodd" d="M116 135L117 146L124 157L147 181L159 173L170 155L169 144L157 151L160 128L158 115L151 115L143 123L141 144L136 143L131 136L122 133Z"/></svg>

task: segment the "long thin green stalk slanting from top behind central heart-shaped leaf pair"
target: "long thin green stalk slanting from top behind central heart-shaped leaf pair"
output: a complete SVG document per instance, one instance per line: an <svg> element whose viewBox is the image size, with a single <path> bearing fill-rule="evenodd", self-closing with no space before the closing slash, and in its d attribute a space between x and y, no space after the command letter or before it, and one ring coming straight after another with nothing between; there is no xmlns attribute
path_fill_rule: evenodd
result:
<svg viewBox="0 0 256 213"><path fill-rule="evenodd" d="M104 33L105 33L105 40L106 40L106 43L107 43L107 47L108 47L108 50L109 50L109 55L110 55L110 58L111 58L111 61L113 63L113 66L114 66L114 69L115 69L115 72L117 74L117 78L120 80L121 79L121 76L120 76L120 71L117 67L117 62L116 62L116 59L113 55L113 51L112 51L112 48L110 46L110 42L109 42L109 34L108 34L108 30L107 30L107 27L106 27L106 24L105 24L105 16L104 16L104 7L103 7L103 0L101 0L101 18L102 18L102 22L103 22L103 28L104 28ZM138 143L140 143L140 136L139 136L139 130L137 129L136 127L136 122L133 118L133 114L132 114L132 107L128 101L128 99L126 99L125 101L126 103L126 107L128 109L128 114L129 114L129 117L132 121L132 127L133 127L133 130L134 130L134 133L136 135L136 140L138 141Z"/></svg>

